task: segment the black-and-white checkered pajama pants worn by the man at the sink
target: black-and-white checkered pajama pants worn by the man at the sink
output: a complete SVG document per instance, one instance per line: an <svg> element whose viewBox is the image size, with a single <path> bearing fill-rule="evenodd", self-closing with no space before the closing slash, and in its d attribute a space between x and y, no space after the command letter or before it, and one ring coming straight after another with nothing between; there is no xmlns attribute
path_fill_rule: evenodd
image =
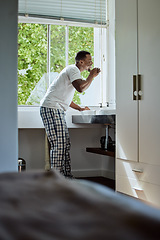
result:
<svg viewBox="0 0 160 240"><path fill-rule="evenodd" d="M40 115L51 145L51 168L60 171L66 177L72 177L70 160L70 138L65 121L65 113L60 109L41 107Z"/></svg>

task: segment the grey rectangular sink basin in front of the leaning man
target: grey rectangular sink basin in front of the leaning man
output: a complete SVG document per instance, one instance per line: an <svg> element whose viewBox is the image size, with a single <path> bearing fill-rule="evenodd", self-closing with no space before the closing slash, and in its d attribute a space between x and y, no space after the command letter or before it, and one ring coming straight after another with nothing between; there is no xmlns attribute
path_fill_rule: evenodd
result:
<svg viewBox="0 0 160 240"><path fill-rule="evenodd" d="M73 115L72 123L114 124L115 114L107 115Z"/></svg>

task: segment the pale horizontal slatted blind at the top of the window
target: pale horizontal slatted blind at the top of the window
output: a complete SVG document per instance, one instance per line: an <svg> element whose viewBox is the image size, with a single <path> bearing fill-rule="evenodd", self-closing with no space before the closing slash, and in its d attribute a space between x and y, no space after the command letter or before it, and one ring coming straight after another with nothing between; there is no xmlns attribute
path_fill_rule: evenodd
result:
<svg viewBox="0 0 160 240"><path fill-rule="evenodd" d="M106 25L107 0L19 0L19 16Z"/></svg>

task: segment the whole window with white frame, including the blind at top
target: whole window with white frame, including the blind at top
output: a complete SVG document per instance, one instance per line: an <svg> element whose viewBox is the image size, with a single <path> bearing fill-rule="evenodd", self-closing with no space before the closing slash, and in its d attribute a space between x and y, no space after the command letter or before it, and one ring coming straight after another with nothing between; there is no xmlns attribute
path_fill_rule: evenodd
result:
<svg viewBox="0 0 160 240"><path fill-rule="evenodd" d="M83 49L101 74L74 100L115 106L115 1L40 2L19 0L18 104L39 105L49 84Z"/></svg>

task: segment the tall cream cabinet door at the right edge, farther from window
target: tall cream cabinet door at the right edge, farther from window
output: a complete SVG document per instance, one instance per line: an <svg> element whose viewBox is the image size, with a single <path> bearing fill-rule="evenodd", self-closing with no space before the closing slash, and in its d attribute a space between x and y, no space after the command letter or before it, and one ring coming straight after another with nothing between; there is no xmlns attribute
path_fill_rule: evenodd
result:
<svg viewBox="0 0 160 240"><path fill-rule="evenodd" d="M160 0L138 1L141 162L160 165Z"/></svg>

